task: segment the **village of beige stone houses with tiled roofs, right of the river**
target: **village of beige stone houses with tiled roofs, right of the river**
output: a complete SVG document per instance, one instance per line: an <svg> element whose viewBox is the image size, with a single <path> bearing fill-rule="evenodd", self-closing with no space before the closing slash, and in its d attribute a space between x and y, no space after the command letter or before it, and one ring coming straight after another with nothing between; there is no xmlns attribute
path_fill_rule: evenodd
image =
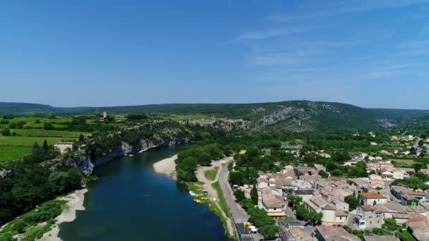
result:
<svg viewBox="0 0 429 241"><path fill-rule="evenodd" d="M303 162L276 173L259 171L257 206L277 221L279 240L429 240L429 193L421 187L429 185L429 168L386 159L423 156L425 141L392 136L390 142L400 148L380 150L384 157L356 153L342 165L365 163L368 175L361 178L337 177L323 165ZM283 149L298 156L301 147ZM249 199L255 187L234 185Z"/></svg>

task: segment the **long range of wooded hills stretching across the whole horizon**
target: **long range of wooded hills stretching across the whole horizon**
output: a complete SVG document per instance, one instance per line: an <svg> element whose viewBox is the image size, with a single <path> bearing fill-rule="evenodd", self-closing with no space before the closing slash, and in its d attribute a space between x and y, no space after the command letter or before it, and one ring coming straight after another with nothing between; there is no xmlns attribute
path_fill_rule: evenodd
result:
<svg viewBox="0 0 429 241"><path fill-rule="evenodd" d="M395 125L428 114L423 110L365 109L351 104L322 101L282 101L255 104L149 104L110 107L53 107L42 104L1 103L0 115L8 113L202 113L216 117L243 118L255 129L291 131L316 129L372 129Z"/></svg>

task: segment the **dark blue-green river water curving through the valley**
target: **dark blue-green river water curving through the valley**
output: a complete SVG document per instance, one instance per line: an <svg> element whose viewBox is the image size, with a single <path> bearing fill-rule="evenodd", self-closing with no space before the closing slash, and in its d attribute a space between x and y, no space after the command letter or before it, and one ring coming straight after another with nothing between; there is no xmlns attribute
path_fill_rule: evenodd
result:
<svg viewBox="0 0 429 241"><path fill-rule="evenodd" d="M124 156L97 168L85 211L60 225L63 240L226 240L219 218L152 164L184 147Z"/></svg>

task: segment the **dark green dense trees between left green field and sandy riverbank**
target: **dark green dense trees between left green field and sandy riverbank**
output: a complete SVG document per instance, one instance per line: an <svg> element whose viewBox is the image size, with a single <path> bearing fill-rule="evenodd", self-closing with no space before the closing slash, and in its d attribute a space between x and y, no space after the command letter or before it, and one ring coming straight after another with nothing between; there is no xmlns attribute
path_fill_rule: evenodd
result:
<svg viewBox="0 0 429 241"><path fill-rule="evenodd" d="M83 175L73 166L60 163L49 168L53 150L35 143L31 156L0 166L11 175L0 178L0 224L34 209L38 204L83 185Z"/></svg>

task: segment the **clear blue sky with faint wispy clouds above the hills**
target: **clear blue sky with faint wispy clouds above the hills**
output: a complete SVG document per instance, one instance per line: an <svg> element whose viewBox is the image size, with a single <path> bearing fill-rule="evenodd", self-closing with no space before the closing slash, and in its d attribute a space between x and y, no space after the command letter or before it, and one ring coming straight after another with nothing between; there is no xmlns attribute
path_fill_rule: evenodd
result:
<svg viewBox="0 0 429 241"><path fill-rule="evenodd" d="M0 1L0 101L429 109L429 1Z"/></svg>

